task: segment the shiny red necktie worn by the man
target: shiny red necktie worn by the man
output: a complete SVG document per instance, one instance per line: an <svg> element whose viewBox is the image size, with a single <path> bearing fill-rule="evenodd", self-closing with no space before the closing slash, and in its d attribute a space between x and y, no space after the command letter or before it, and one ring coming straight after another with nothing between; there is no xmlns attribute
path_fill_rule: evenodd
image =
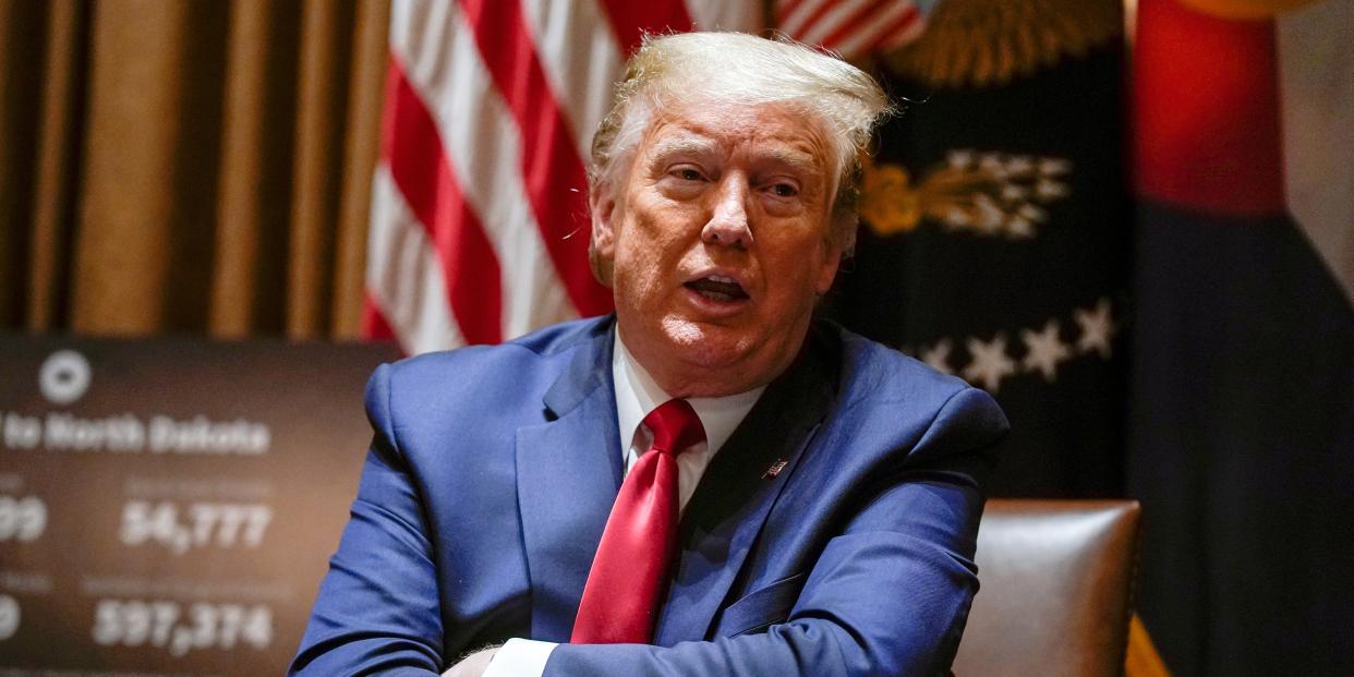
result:
<svg viewBox="0 0 1354 677"><path fill-rule="evenodd" d="M645 417L654 443L620 485L578 604L575 645L649 643L677 547L677 454L705 440L685 399Z"/></svg>

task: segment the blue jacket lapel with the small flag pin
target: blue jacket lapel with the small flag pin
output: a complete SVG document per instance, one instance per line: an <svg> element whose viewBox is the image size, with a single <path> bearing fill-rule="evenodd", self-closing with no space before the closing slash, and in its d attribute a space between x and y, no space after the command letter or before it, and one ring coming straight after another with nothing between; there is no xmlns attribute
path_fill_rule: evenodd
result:
<svg viewBox="0 0 1354 677"><path fill-rule="evenodd" d="M827 412L835 385L831 355L810 333L799 360L766 389L705 468L682 515L681 561L655 645L709 639L766 515ZM768 477L780 462L785 464Z"/></svg>

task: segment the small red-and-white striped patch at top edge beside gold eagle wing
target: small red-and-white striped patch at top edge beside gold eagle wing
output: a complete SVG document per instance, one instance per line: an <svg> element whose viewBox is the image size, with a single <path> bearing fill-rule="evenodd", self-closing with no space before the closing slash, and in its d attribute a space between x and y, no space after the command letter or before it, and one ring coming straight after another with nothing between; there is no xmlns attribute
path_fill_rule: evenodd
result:
<svg viewBox="0 0 1354 677"><path fill-rule="evenodd" d="M856 58L899 47L921 35L921 11L910 0L777 0L781 32Z"/></svg>

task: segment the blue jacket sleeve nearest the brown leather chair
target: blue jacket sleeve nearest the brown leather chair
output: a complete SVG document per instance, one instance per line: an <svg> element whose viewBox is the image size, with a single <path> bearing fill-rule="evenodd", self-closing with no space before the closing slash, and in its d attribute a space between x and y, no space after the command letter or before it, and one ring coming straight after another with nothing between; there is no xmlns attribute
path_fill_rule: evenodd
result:
<svg viewBox="0 0 1354 677"><path fill-rule="evenodd" d="M982 483L1005 431L986 393L952 395L915 445L865 485L784 621L672 647L562 645L546 676L948 672L978 589Z"/></svg>

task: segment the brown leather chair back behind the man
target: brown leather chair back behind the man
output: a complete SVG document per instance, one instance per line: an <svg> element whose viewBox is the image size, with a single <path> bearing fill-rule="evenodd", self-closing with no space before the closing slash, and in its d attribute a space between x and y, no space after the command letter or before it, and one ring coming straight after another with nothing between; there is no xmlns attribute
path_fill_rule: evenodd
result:
<svg viewBox="0 0 1354 677"><path fill-rule="evenodd" d="M1122 674L1139 513L1137 501L988 501L955 674Z"/></svg>

